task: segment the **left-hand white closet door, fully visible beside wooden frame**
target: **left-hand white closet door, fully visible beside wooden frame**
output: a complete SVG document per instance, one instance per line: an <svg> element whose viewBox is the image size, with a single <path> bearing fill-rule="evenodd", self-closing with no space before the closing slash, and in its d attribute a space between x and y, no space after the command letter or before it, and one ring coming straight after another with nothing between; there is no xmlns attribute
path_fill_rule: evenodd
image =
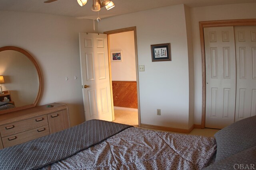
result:
<svg viewBox="0 0 256 170"><path fill-rule="evenodd" d="M236 53L233 27L204 28L206 61L205 127L222 129L234 123Z"/></svg>

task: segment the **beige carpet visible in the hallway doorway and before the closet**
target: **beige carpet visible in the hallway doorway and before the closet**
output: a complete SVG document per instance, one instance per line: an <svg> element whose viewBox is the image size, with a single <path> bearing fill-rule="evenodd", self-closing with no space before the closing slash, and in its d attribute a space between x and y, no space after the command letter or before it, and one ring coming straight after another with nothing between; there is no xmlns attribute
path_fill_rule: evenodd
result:
<svg viewBox="0 0 256 170"><path fill-rule="evenodd" d="M114 114L115 114L115 120L113 122L138 127L138 112L137 111L114 109ZM146 128L144 128L144 129L146 129ZM156 130L156 129L152 129L152 130ZM210 129L210 128L193 129L190 133L185 133L185 134L213 137L213 135L216 132L218 132L219 130L220 129ZM173 132L173 133L176 133L176 132Z"/></svg>

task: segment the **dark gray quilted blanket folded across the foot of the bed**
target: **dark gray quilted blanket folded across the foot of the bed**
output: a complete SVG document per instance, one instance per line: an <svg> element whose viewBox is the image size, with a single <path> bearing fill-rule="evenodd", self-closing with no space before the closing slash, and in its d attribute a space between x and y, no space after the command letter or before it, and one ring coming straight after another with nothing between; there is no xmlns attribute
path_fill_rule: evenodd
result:
<svg viewBox="0 0 256 170"><path fill-rule="evenodd" d="M89 120L80 125L0 150L0 170L34 170L68 158L130 125Z"/></svg>

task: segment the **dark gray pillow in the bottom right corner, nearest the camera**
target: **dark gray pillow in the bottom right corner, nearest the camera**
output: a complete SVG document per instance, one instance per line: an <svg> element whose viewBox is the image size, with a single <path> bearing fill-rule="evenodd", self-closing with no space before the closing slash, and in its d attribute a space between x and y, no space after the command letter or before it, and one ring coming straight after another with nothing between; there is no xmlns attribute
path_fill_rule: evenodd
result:
<svg viewBox="0 0 256 170"><path fill-rule="evenodd" d="M256 146L220 160L204 170L256 169Z"/></svg>

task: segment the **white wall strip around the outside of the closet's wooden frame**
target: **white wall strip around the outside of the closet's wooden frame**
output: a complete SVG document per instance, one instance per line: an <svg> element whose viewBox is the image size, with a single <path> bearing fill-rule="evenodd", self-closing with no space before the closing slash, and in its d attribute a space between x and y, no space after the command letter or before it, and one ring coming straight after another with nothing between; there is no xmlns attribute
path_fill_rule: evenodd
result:
<svg viewBox="0 0 256 170"><path fill-rule="evenodd" d="M201 124L202 118L202 55L199 21L256 18L255 9L256 3L191 8L195 76L195 124Z"/></svg>

